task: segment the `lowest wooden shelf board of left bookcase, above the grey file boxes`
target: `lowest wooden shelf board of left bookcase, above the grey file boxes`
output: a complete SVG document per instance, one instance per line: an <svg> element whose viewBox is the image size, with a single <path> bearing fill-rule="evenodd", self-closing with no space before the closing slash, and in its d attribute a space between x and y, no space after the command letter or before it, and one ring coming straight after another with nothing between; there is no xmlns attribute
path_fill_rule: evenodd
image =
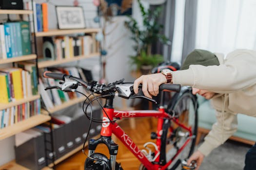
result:
<svg viewBox="0 0 256 170"><path fill-rule="evenodd" d="M51 117L48 115L35 115L28 119L22 120L14 125L8 126L6 128L3 128L0 130L0 140L5 139L7 137L13 136L15 134L18 134L24 130L30 129L32 127L35 127L41 123L44 123L48 120L50 120Z"/></svg>

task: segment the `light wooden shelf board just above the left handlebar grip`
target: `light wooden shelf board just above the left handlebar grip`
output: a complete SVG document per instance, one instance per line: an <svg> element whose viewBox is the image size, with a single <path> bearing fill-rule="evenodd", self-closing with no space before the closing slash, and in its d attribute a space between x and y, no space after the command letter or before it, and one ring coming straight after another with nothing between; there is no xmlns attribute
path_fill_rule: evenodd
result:
<svg viewBox="0 0 256 170"><path fill-rule="evenodd" d="M56 66L56 65L70 63L70 62L74 62L74 61L78 61L78 60L82 60L82 59L86 59L86 58L91 58L91 57L95 57L95 56L99 56L99 53L92 53L92 54L86 55L86 56L79 55L79 56L76 56L73 58L63 58L62 60L40 61L40 62L38 62L38 68L46 68L46 67Z"/></svg>

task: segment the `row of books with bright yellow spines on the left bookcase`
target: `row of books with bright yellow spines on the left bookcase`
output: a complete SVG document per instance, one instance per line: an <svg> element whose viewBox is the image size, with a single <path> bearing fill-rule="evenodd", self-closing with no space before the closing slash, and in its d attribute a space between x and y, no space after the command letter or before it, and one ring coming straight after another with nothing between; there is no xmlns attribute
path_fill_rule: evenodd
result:
<svg viewBox="0 0 256 170"><path fill-rule="evenodd" d="M0 103L14 102L38 94L35 63L17 62L15 68L0 68Z"/></svg>

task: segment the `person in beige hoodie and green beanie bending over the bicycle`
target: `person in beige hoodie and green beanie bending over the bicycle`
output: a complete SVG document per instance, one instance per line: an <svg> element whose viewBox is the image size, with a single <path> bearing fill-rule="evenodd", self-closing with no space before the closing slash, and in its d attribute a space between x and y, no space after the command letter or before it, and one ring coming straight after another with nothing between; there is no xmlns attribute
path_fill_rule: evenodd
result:
<svg viewBox="0 0 256 170"><path fill-rule="evenodd" d="M236 50L224 55L194 50L181 70L170 71L171 83L192 86L193 94L211 99L217 122L198 150L188 159L197 161L197 170L211 151L223 144L237 129L237 113L256 117L256 51ZM169 76L170 77L170 76ZM146 97L158 95L158 86L166 83L162 73L142 75L134 82ZM207 113L205 113L207 114ZM256 144L246 153L244 170L256 170Z"/></svg>

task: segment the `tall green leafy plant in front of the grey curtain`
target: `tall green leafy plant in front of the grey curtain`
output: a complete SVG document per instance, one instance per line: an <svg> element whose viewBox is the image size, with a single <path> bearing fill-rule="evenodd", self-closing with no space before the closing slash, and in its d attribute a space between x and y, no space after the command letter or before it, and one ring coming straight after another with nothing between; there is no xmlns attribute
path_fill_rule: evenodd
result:
<svg viewBox="0 0 256 170"><path fill-rule="evenodd" d="M132 39L135 42L133 47L136 51L134 56L130 56L131 63L136 64L137 69L143 69L147 66L147 69L151 69L157 66L163 61L163 56L159 54L152 54L152 43L160 40L163 44L170 44L170 40L163 34L160 34L163 25L158 23L158 18L161 12L161 7L155 10L145 10L140 0L138 0L140 12L143 18L143 27L138 26L138 22L135 18L129 17L128 21L125 21L125 26L132 33ZM148 73L148 71L146 71Z"/></svg>

